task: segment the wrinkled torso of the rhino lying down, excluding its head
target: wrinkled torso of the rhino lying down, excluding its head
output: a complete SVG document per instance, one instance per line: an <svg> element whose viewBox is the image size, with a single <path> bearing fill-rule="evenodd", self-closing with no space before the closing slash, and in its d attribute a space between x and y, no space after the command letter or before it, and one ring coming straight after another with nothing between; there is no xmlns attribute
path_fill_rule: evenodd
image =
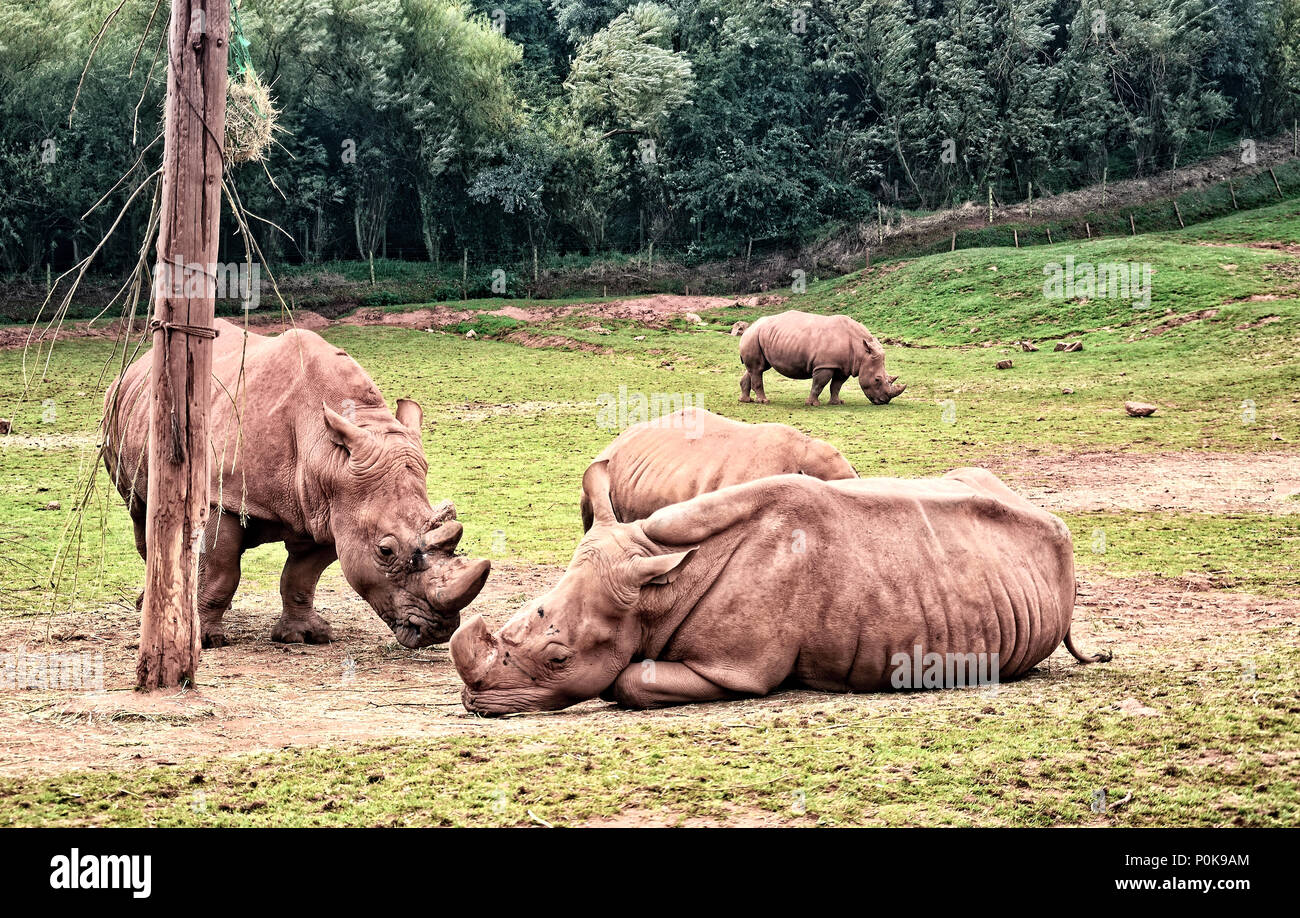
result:
<svg viewBox="0 0 1300 918"><path fill-rule="evenodd" d="M958 480L784 476L751 486L771 494L701 546L698 570L715 572L662 659L689 661L722 684L749 680L738 690L878 690L890 688L894 655L918 645L998 654L998 677L1014 679L1065 637L1069 531L1027 502Z"/></svg>

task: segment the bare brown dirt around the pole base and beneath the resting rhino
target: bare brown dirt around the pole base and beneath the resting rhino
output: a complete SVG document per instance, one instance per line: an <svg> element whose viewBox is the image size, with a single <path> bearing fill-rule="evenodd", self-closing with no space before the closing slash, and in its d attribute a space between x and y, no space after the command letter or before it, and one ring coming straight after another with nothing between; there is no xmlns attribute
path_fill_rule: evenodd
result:
<svg viewBox="0 0 1300 918"><path fill-rule="evenodd" d="M499 563L472 611L495 628L563 573L554 566ZM1110 648L1106 666L1128 670L1158 655L1164 662L1206 661L1217 641L1268 632L1295 638L1300 601L1262 599L1165 580L1095 580L1080 585L1074 636L1082 649ZM0 690L0 775L122 770L292 746L447 735L517 736L564 726L629 722L727 726L751 716L815 711L872 714L957 703L952 693L836 696L788 690L767 698L625 711L589 701L566 711L480 719L460 705L460 680L445 646L419 651L391 635L337 572L317 594L338 640L328 646L269 640L278 596L240 593L226 616L231 644L203 655L196 690L140 696L130 689L138 620L134 609L112 606L52 620L4 620L0 653L103 654L104 690ZM1252 638L1253 640L1253 638ZM1200 663L1197 663L1200 664ZM1044 680L1082 672L1065 649L1022 683L1001 692L1041 692ZM620 819L640 819L624 814ZM637 824L660 819L645 814ZM668 817L671 819L671 817ZM797 823L794 814L737 811L719 824ZM711 824L708 819L696 819ZM623 823L619 823L623 824ZM632 824L632 823L627 823ZM688 824L694 824L688 820Z"/></svg>

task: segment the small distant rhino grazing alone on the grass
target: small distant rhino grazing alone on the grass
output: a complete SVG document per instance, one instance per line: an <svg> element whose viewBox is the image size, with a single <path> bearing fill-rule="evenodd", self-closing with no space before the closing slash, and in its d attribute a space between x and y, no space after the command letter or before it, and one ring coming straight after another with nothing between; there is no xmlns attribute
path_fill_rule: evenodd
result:
<svg viewBox="0 0 1300 918"><path fill-rule="evenodd" d="M818 395L831 384L831 404L840 400L840 386L850 376L858 377L862 394L872 404L888 404L902 395L907 384L898 385L897 376L885 373L885 351L867 329L848 316L816 316L790 309L763 316L750 325L740 339L740 400L767 403L763 373L771 368L792 380L812 380L806 404L822 404Z"/></svg>

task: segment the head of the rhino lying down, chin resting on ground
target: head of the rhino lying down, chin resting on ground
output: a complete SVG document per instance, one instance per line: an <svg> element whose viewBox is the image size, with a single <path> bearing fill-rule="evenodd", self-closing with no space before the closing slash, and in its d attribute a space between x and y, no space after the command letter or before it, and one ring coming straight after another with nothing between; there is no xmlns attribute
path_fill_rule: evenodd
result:
<svg viewBox="0 0 1300 918"><path fill-rule="evenodd" d="M582 476L594 512L560 581L497 633L481 615L451 637L451 659L474 714L550 711L594 698L632 662L642 589L676 579L694 549L663 554L638 523L619 523L606 462Z"/></svg>

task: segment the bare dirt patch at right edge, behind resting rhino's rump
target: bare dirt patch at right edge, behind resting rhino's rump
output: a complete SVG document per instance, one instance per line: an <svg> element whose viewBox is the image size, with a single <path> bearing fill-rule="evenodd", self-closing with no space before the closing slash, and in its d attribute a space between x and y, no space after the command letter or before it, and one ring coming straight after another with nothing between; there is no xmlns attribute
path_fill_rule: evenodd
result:
<svg viewBox="0 0 1300 918"><path fill-rule="evenodd" d="M988 463L1053 512L1300 512L1296 452L1074 452Z"/></svg>

